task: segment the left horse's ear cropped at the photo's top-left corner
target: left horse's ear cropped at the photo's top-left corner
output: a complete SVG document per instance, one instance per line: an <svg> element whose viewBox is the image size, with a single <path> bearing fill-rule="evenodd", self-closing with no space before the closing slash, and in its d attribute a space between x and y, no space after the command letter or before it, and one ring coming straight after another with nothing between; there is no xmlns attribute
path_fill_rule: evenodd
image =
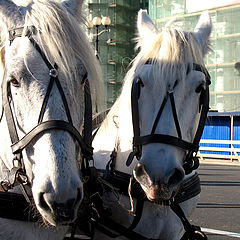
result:
<svg viewBox="0 0 240 240"><path fill-rule="evenodd" d="M0 0L0 31L12 29L22 24L23 8L10 0Z"/></svg>

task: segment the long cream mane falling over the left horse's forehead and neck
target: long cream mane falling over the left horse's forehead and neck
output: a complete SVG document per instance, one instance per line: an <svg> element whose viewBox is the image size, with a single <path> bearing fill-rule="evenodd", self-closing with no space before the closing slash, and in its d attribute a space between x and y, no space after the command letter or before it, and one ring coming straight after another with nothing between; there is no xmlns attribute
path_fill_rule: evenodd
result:
<svg viewBox="0 0 240 240"><path fill-rule="evenodd" d="M81 24L84 24L83 17L76 19L59 2L33 0L27 7L24 27L34 26L38 30L38 43L42 51L52 64L58 65L70 83L79 79L78 63L83 63L90 79L94 102L101 108L101 68Z"/></svg>

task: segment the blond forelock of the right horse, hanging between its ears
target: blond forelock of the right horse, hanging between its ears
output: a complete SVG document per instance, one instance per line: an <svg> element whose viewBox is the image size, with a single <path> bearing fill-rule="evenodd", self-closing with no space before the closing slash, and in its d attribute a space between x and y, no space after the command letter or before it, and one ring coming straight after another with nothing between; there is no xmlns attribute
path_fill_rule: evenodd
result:
<svg viewBox="0 0 240 240"><path fill-rule="evenodd" d="M162 28L154 41L150 39L148 45L146 42L141 43L146 46L141 46L124 80L128 89L131 88L134 76L142 71L149 59L153 68L153 84L161 84L164 88L173 85L176 78L184 78L186 67L191 67L191 63L204 65L202 52L191 32L170 27Z"/></svg>

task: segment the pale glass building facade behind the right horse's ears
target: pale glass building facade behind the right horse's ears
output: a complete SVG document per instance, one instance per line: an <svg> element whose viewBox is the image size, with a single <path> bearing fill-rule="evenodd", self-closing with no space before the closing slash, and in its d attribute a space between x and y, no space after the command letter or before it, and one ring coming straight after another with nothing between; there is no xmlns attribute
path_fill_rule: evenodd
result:
<svg viewBox="0 0 240 240"><path fill-rule="evenodd" d="M149 0L149 15L161 28L176 17L176 25L193 31L202 11L211 14L212 51L205 63L211 75L212 111L240 111L240 1L239 0Z"/></svg>

